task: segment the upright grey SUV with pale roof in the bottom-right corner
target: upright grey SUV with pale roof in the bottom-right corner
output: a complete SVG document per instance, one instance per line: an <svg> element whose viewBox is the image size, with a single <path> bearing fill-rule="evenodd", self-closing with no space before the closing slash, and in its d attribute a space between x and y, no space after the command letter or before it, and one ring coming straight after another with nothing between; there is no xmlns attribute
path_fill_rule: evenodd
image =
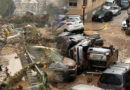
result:
<svg viewBox="0 0 130 90"><path fill-rule="evenodd" d="M110 66L99 78L98 85L106 90L130 90L130 64Z"/></svg>

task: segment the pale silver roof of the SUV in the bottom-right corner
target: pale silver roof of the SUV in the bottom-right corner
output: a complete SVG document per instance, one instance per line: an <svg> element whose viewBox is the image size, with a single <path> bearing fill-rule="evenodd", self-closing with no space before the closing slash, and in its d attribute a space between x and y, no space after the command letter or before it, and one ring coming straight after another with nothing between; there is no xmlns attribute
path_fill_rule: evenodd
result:
<svg viewBox="0 0 130 90"><path fill-rule="evenodd" d="M123 74L130 70L130 64L126 63L118 63L115 65L110 66L108 69L106 69L103 73L109 73L109 74Z"/></svg>

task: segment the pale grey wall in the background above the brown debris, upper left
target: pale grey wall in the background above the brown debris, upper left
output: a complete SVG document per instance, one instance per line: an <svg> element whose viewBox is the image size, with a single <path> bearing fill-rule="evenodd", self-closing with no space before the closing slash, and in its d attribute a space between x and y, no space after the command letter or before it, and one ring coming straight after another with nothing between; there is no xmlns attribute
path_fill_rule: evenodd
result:
<svg viewBox="0 0 130 90"><path fill-rule="evenodd" d="M47 7L52 4L55 7L64 7L68 5L66 0L14 0L16 10L14 15L24 15L27 11L34 14L45 14L47 13Z"/></svg>

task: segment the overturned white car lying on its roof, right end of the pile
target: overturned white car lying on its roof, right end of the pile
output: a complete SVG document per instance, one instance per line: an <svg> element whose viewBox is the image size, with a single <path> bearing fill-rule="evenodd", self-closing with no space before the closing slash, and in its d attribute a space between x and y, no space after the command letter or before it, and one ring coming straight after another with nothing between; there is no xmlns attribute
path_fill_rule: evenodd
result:
<svg viewBox="0 0 130 90"><path fill-rule="evenodd" d="M118 60L118 50L110 47L89 47L87 51L89 67L107 68Z"/></svg>

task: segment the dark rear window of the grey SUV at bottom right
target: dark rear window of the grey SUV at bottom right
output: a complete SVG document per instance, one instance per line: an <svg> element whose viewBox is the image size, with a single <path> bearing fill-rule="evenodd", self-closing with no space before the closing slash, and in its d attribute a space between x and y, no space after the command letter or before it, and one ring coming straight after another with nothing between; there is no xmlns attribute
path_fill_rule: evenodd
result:
<svg viewBox="0 0 130 90"><path fill-rule="evenodd" d="M122 77L114 74L102 74L100 82L109 85L121 85Z"/></svg>

